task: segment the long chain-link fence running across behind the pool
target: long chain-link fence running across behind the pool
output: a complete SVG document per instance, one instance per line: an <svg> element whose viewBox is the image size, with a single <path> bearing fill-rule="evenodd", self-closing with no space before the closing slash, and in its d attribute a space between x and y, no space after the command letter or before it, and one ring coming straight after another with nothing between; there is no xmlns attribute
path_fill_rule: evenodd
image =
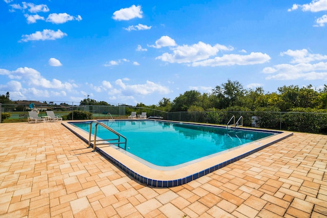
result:
<svg viewBox="0 0 327 218"><path fill-rule="evenodd" d="M27 122L28 111L31 103L27 104L1 104L1 113L8 113L10 117L0 122ZM34 103L35 104L35 103ZM226 125L232 116L238 120L243 118L244 127L257 127L275 130L289 130L296 132L308 132L327 134L327 113L305 112L274 112L274 111L181 111L165 112L151 108L131 107L123 104L110 106L101 105L34 105L39 116L46 115L46 110L53 110L56 115L67 119L68 113L73 111L87 111L94 119L124 119L131 112L136 114L147 113L147 117L172 120L177 122L194 122ZM71 117L71 116L69 116ZM74 117L72 117L74 120Z"/></svg>

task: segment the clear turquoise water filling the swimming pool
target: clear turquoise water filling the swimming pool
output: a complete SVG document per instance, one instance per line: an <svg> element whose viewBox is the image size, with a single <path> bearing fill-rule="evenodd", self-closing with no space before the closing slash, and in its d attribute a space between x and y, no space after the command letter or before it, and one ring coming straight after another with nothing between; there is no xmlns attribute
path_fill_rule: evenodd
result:
<svg viewBox="0 0 327 218"><path fill-rule="evenodd" d="M128 152L158 166L175 166L273 135L268 132L226 130L157 120L101 122L127 138ZM89 131L87 122L72 124ZM94 127L95 124L92 125L92 134ZM100 125L97 137L116 138Z"/></svg>

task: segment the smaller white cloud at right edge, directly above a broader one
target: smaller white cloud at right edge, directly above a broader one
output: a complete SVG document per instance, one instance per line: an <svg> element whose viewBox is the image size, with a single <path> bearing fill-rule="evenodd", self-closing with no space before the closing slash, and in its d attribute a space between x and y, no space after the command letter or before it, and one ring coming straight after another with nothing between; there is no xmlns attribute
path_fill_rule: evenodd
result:
<svg viewBox="0 0 327 218"><path fill-rule="evenodd" d="M291 63L309 63L312 61L327 60L327 55L310 54L308 50L287 50L281 52L281 56L288 55L292 57Z"/></svg>

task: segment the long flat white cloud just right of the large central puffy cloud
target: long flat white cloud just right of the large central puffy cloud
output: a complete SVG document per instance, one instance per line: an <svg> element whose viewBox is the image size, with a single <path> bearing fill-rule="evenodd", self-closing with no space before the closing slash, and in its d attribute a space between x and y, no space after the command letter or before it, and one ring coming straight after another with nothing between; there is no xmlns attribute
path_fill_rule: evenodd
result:
<svg viewBox="0 0 327 218"><path fill-rule="evenodd" d="M214 59L193 62L191 66L231 66L231 65L253 65L266 63L271 58L261 52L251 52L249 55L223 55Z"/></svg>

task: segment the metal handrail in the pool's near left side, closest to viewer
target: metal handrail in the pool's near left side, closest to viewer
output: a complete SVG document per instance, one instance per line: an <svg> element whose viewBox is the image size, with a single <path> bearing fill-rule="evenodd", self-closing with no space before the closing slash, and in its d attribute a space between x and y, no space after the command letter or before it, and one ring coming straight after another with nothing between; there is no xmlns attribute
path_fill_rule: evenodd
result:
<svg viewBox="0 0 327 218"><path fill-rule="evenodd" d="M89 135L88 135L88 147L91 147L91 130L92 130L92 124L93 123L97 123L95 126L95 130L94 130L94 142L93 142L93 151L96 150L96 144L97 141L107 141L105 143L98 143L99 144L118 144L118 147L120 147L120 144L125 144L125 151L126 151L126 147L127 147L127 138L125 136L123 136L122 134L116 132L115 130L111 129L110 127L108 127L107 125L105 125L104 123L98 122L96 120L92 121L90 123L90 131L89 131ZM112 138L112 139L101 139L101 140L97 140L97 128L98 125L104 127L105 129L109 130L110 132L112 132L113 134L117 135L118 138ZM125 139L125 142L121 142L121 137ZM118 140L118 142L108 142L108 141L112 141L112 140ZM121 148L121 147L120 147Z"/></svg>

